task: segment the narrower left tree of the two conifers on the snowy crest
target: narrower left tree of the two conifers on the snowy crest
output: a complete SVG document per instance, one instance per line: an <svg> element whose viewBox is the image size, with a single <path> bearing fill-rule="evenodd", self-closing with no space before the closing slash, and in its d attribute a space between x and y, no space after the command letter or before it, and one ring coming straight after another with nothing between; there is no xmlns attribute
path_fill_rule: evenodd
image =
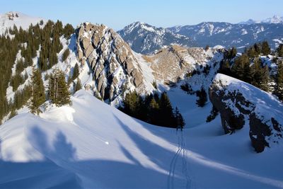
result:
<svg viewBox="0 0 283 189"><path fill-rule="evenodd" d="M33 68L32 79L32 98L30 101L30 111L34 114L40 113L40 105L45 102L45 87L38 69Z"/></svg>

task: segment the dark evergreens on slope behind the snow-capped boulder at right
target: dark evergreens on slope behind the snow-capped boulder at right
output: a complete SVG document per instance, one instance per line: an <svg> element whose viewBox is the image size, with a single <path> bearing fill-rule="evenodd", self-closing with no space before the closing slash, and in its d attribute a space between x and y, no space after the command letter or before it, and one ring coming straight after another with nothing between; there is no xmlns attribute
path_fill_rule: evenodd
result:
<svg viewBox="0 0 283 189"><path fill-rule="evenodd" d="M260 56L266 55L277 55L277 57L282 57L283 55L283 45L280 44L277 47L275 52L270 50L270 45L267 41L255 43L254 45L246 48L246 50L240 56L236 56L237 51L236 48L233 47L231 50L228 50L224 59L221 62L221 68L219 70L220 73L226 74L229 76L233 76L236 79L240 79L242 81L247 82L248 84L252 84L263 91L272 91L272 86L270 86L270 79L273 79L270 76L270 69L262 62ZM275 63L277 64L278 70L275 75L275 90L274 93L282 93L280 92L282 89L279 87L282 77L281 64L282 61L277 61L275 58ZM282 100L282 97L279 97Z"/></svg>

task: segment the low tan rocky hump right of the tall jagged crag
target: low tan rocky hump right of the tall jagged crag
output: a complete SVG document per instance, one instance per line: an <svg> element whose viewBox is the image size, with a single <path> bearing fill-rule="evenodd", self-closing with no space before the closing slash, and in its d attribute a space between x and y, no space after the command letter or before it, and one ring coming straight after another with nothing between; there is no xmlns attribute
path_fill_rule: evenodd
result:
<svg viewBox="0 0 283 189"><path fill-rule="evenodd" d="M221 53L221 50L216 49L206 51L203 48L172 45L161 49L155 55L144 56L144 58L151 62L151 69L156 79L171 83L182 79L185 74L200 69L200 67L206 67L210 59L218 57Z"/></svg>

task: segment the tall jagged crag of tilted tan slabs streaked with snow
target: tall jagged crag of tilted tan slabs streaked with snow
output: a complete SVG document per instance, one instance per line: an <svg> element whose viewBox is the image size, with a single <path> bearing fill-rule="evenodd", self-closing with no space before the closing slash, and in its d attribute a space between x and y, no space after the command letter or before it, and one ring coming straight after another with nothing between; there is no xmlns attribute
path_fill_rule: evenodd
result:
<svg viewBox="0 0 283 189"><path fill-rule="evenodd" d="M103 99L117 97L121 88L143 88L143 74L132 50L105 25L82 23L76 29L78 58L93 71L96 90Z"/></svg>

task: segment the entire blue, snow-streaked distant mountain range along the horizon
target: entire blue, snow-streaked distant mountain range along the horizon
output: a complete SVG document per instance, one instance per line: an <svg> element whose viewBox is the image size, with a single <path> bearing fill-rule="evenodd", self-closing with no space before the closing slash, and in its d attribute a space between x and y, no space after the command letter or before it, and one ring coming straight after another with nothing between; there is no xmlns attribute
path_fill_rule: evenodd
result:
<svg viewBox="0 0 283 189"><path fill-rule="evenodd" d="M134 22L117 33L139 53L154 53L161 47L178 44L186 47L237 47L243 51L255 42L267 40L274 49L283 41L283 17L273 16L263 21L248 20L241 23L203 22L197 25L156 28Z"/></svg>

